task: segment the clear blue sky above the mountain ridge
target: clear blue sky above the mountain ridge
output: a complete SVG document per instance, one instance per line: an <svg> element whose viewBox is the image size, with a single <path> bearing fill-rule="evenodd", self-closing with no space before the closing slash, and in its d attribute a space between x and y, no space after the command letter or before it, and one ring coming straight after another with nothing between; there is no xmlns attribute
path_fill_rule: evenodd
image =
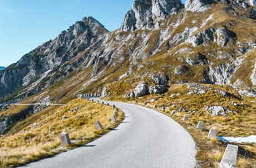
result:
<svg viewBox="0 0 256 168"><path fill-rule="evenodd" d="M0 0L0 66L9 66L83 17L109 31L121 26L133 0Z"/></svg>

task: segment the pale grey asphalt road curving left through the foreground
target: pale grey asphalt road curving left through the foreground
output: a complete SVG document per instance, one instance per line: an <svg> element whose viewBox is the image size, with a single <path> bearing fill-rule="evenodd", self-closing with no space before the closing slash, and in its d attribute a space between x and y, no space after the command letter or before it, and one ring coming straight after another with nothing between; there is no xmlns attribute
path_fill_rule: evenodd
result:
<svg viewBox="0 0 256 168"><path fill-rule="evenodd" d="M126 116L115 130L83 147L23 167L196 167L195 142L173 119L135 104L109 103Z"/></svg>

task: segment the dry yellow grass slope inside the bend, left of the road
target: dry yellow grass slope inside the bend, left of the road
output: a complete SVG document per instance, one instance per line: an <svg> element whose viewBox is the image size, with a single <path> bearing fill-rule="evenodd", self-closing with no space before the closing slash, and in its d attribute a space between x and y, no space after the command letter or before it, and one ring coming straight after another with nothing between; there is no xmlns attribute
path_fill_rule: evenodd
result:
<svg viewBox="0 0 256 168"><path fill-rule="evenodd" d="M75 110L75 108L77 110ZM74 99L46 115L16 134L0 137L0 167L12 167L26 164L37 159L61 152L59 136L61 132L69 133L75 148L105 134L118 125L124 118L119 111L118 122L111 123L110 116L116 109L97 102ZM62 120L63 116L67 119ZM104 130L97 131L94 121L99 121Z"/></svg>

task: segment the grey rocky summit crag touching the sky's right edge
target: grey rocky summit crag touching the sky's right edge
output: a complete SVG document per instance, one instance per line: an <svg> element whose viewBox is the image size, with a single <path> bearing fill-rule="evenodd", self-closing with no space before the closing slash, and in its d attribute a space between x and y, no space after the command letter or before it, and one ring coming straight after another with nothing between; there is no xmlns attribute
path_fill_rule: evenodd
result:
<svg viewBox="0 0 256 168"><path fill-rule="evenodd" d="M135 0L124 17L121 30L152 29L155 18L164 19L165 15L175 14L182 7L180 0Z"/></svg>

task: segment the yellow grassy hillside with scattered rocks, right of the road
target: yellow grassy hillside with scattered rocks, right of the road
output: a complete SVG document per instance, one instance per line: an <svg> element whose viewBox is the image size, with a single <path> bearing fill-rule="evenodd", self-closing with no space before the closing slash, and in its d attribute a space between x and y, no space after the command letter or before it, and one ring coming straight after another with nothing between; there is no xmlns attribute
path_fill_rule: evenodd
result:
<svg viewBox="0 0 256 168"><path fill-rule="evenodd" d="M219 167L219 161L222 159L227 145L227 142L217 139L208 140L210 129L217 129L217 135L224 137L248 137L256 134L255 97L241 96L238 94L238 89L228 85L186 83L170 85L169 91L164 94L124 98L127 88L134 89L138 81L124 80L121 83L111 83L107 89L110 92L108 99L132 103L136 101L136 104L142 106L146 102L146 107L149 108L154 108L154 105L157 104L156 110L170 116L192 134L197 144L198 164L202 167ZM208 106L224 107L226 115L211 116L211 111L207 112L206 110ZM166 107L166 110L162 110L162 107ZM171 115L173 111L176 113ZM183 121L184 115L189 115L189 121ZM203 131L196 129L199 121L204 121ZM256 145L236 145L239 146L238 167L254 167Z"/></svg>

